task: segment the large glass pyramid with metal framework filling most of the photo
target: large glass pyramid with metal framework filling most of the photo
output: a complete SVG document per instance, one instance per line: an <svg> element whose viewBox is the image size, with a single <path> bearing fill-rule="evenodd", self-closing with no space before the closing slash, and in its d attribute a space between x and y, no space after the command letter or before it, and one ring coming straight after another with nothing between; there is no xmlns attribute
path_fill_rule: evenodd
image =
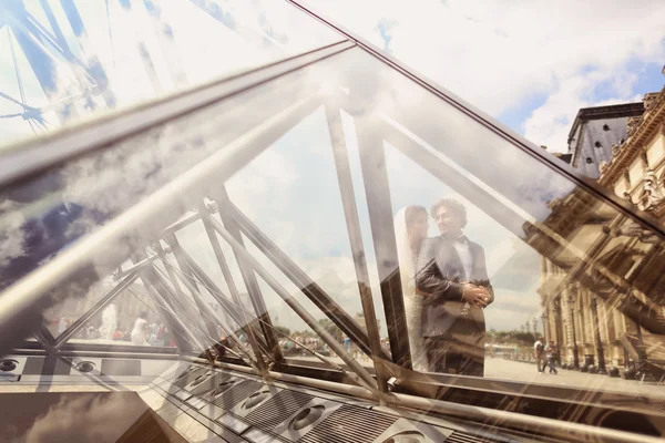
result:
<svg viewBox="0 0 665 443"><path fill-rule="evenodd" d="M530 387L495 362L529 368L543 336L560 362L662 380L663 226L540 147L297 1L121 1L109 23L145 27L101 53L100 11L55 3L0 7L33 73L6 95L41 91L22 124L63 126L0 148L3 356L216 360L463 402L428 383ZM441 258L442 207L463 213L469 278ZM456 309L480 312L456 344L475 372L432 363ZM570 383L625 393L603 380Z"/></svg>

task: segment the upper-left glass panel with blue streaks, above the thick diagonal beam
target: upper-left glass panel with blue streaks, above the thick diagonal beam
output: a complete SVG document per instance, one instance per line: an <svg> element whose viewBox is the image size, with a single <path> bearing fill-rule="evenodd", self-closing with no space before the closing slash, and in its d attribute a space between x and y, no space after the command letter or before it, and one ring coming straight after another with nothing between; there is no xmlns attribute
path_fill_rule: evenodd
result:
<svg viewBox="0 0 665 443"><path fill-rule="evenodd" d="M286 1L30 0L32 19L16 3L0 37L17 101L0 102L17 114L0 120L3 143L344 40Z"/></svg>

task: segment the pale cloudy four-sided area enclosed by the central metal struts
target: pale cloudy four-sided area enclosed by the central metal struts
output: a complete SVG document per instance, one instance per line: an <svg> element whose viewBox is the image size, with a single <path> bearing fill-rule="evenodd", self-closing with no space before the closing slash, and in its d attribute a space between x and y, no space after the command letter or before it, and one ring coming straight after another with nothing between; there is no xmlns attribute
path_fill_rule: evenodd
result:
<svg viewBox="0 0 665 443"><path fill-rule="evenodd" d="M303 120L228 182L232 200L296 262L350 254L324 119L321 109Z"/></svg>

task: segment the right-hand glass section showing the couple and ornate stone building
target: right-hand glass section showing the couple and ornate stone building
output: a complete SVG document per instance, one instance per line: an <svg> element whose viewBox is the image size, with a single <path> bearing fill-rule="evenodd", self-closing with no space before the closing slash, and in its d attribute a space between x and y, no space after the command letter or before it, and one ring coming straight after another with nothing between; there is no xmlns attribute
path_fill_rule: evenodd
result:
<svg viewBox="0 0 665 443"><path fill-rule="evenodd" d="M634 364L657 379L665 323L654 291L659 249L648 243L659 234L378 60L342 58L356 73L341 83L342 109L367 156L370 219L397 220L395 248L387 236L377 243L380 226L372 234L382 275L401 265L418 369L590 388L590 375L557 364ZM442 198L457 204L434 207ZM400 212L409 206L410 218ZM553 363L552 377L540 375L536 357L541 368ZM594 389L622 391L616 379L601 381Z"/></svg>

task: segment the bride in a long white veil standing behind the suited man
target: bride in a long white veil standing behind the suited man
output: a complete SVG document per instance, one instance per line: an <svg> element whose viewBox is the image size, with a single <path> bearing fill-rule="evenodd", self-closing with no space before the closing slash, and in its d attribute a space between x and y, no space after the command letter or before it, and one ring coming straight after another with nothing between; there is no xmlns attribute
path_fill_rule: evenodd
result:
<svg viewBox="0 0 665 443"><path fill-rule="evenodd" d="M420 244L427 237L429 229L427 217L427 209L416 205L400 209L395 216L395 237L397 239L397 254L405 297L407 330L411 347L411 363L417 371L427 369L427 354L420 330L422 296L416 293L413 281Z"/></svg>

